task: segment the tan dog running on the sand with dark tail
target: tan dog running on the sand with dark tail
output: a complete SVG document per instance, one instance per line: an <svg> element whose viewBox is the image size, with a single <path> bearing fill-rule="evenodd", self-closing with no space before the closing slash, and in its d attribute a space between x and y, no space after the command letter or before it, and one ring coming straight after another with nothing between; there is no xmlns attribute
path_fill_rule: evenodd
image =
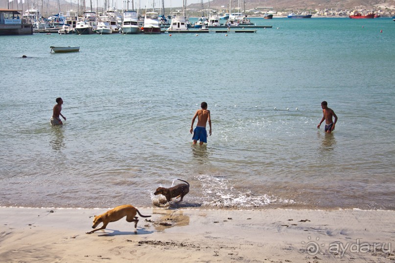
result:
<svg viewBox="0 0 395 263"><path fill-rule="evenodd" d="M135 228L137 228L137 222L139 222L139 219L138 217L136 217L136 213L139 213L140 217L143 218L151 217L151 216L141 215L139 210L137 210L137 208L134 207L133 205L130 204L120 205L111 210L108 210L106 213L101 214L100 216L94 216L92 228L95 228L100 223L103 223L103 226L86 233L92 234L97 230L105 229L109 222L118 221L119 219L125 216L126 216L126 221L135 222ZM137 232L137 229L135 230L135 232Z"/></svg>

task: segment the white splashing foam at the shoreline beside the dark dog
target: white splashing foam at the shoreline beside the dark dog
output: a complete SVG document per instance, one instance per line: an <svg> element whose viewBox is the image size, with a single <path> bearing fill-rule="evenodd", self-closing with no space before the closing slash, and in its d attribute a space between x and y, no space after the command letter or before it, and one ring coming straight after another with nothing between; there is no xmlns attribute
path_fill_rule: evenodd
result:
<svg viewBox="0 0 395 263"><path fill-rule="evenodd" d="M273 195L255 196L251 190L237 191L232 182L225 177L197 175L202 184L203 205L215 207L259 207L272 203L294 203L294 200Z"/></svg>

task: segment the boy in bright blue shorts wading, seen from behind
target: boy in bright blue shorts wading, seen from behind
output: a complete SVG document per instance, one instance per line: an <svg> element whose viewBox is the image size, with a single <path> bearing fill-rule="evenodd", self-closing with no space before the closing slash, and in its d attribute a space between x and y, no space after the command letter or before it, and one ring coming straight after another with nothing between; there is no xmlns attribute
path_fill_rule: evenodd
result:
<svg viewBox="0 0 395 263"><path fill-rule="evenodd" d="M209 134L211 136L211 119L210 119L210 111L207 110L207 103L202 102L200 105L202 108L201 110L196 110L195 115L192 118L192 124L190 127L190 133L193 131L193 144L196 144L199 140L199 144L203 145L203 143L207 143L207 131L206 131L206 124L209 121L210 131ZM193 123L195 122L196 117L198 117L198 123L196 125L195 130L193 130Z"/></svg>

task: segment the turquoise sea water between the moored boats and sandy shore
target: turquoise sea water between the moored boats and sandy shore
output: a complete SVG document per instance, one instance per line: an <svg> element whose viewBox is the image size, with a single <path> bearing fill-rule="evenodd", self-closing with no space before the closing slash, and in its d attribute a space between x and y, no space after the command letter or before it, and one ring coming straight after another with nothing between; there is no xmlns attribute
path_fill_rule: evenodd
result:
<svg viewBox="0 0 395 263"><path fill-rule="evenodd" d="M180 207L394 210L395 22L252 20L273 28L0 37L0 206L150 207L181 178Z"/></svg>

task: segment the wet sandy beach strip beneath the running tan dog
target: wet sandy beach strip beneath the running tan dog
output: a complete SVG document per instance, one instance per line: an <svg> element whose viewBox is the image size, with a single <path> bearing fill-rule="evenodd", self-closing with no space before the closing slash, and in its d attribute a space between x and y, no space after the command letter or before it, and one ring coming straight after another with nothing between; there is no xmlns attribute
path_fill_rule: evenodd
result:
<svg viewBox="0 0 395 263"><path fill-rule="evenodd" d="M1 262L394 262L395 211L0 208ZM99 225L101 226L101 225Z"/></svg>

